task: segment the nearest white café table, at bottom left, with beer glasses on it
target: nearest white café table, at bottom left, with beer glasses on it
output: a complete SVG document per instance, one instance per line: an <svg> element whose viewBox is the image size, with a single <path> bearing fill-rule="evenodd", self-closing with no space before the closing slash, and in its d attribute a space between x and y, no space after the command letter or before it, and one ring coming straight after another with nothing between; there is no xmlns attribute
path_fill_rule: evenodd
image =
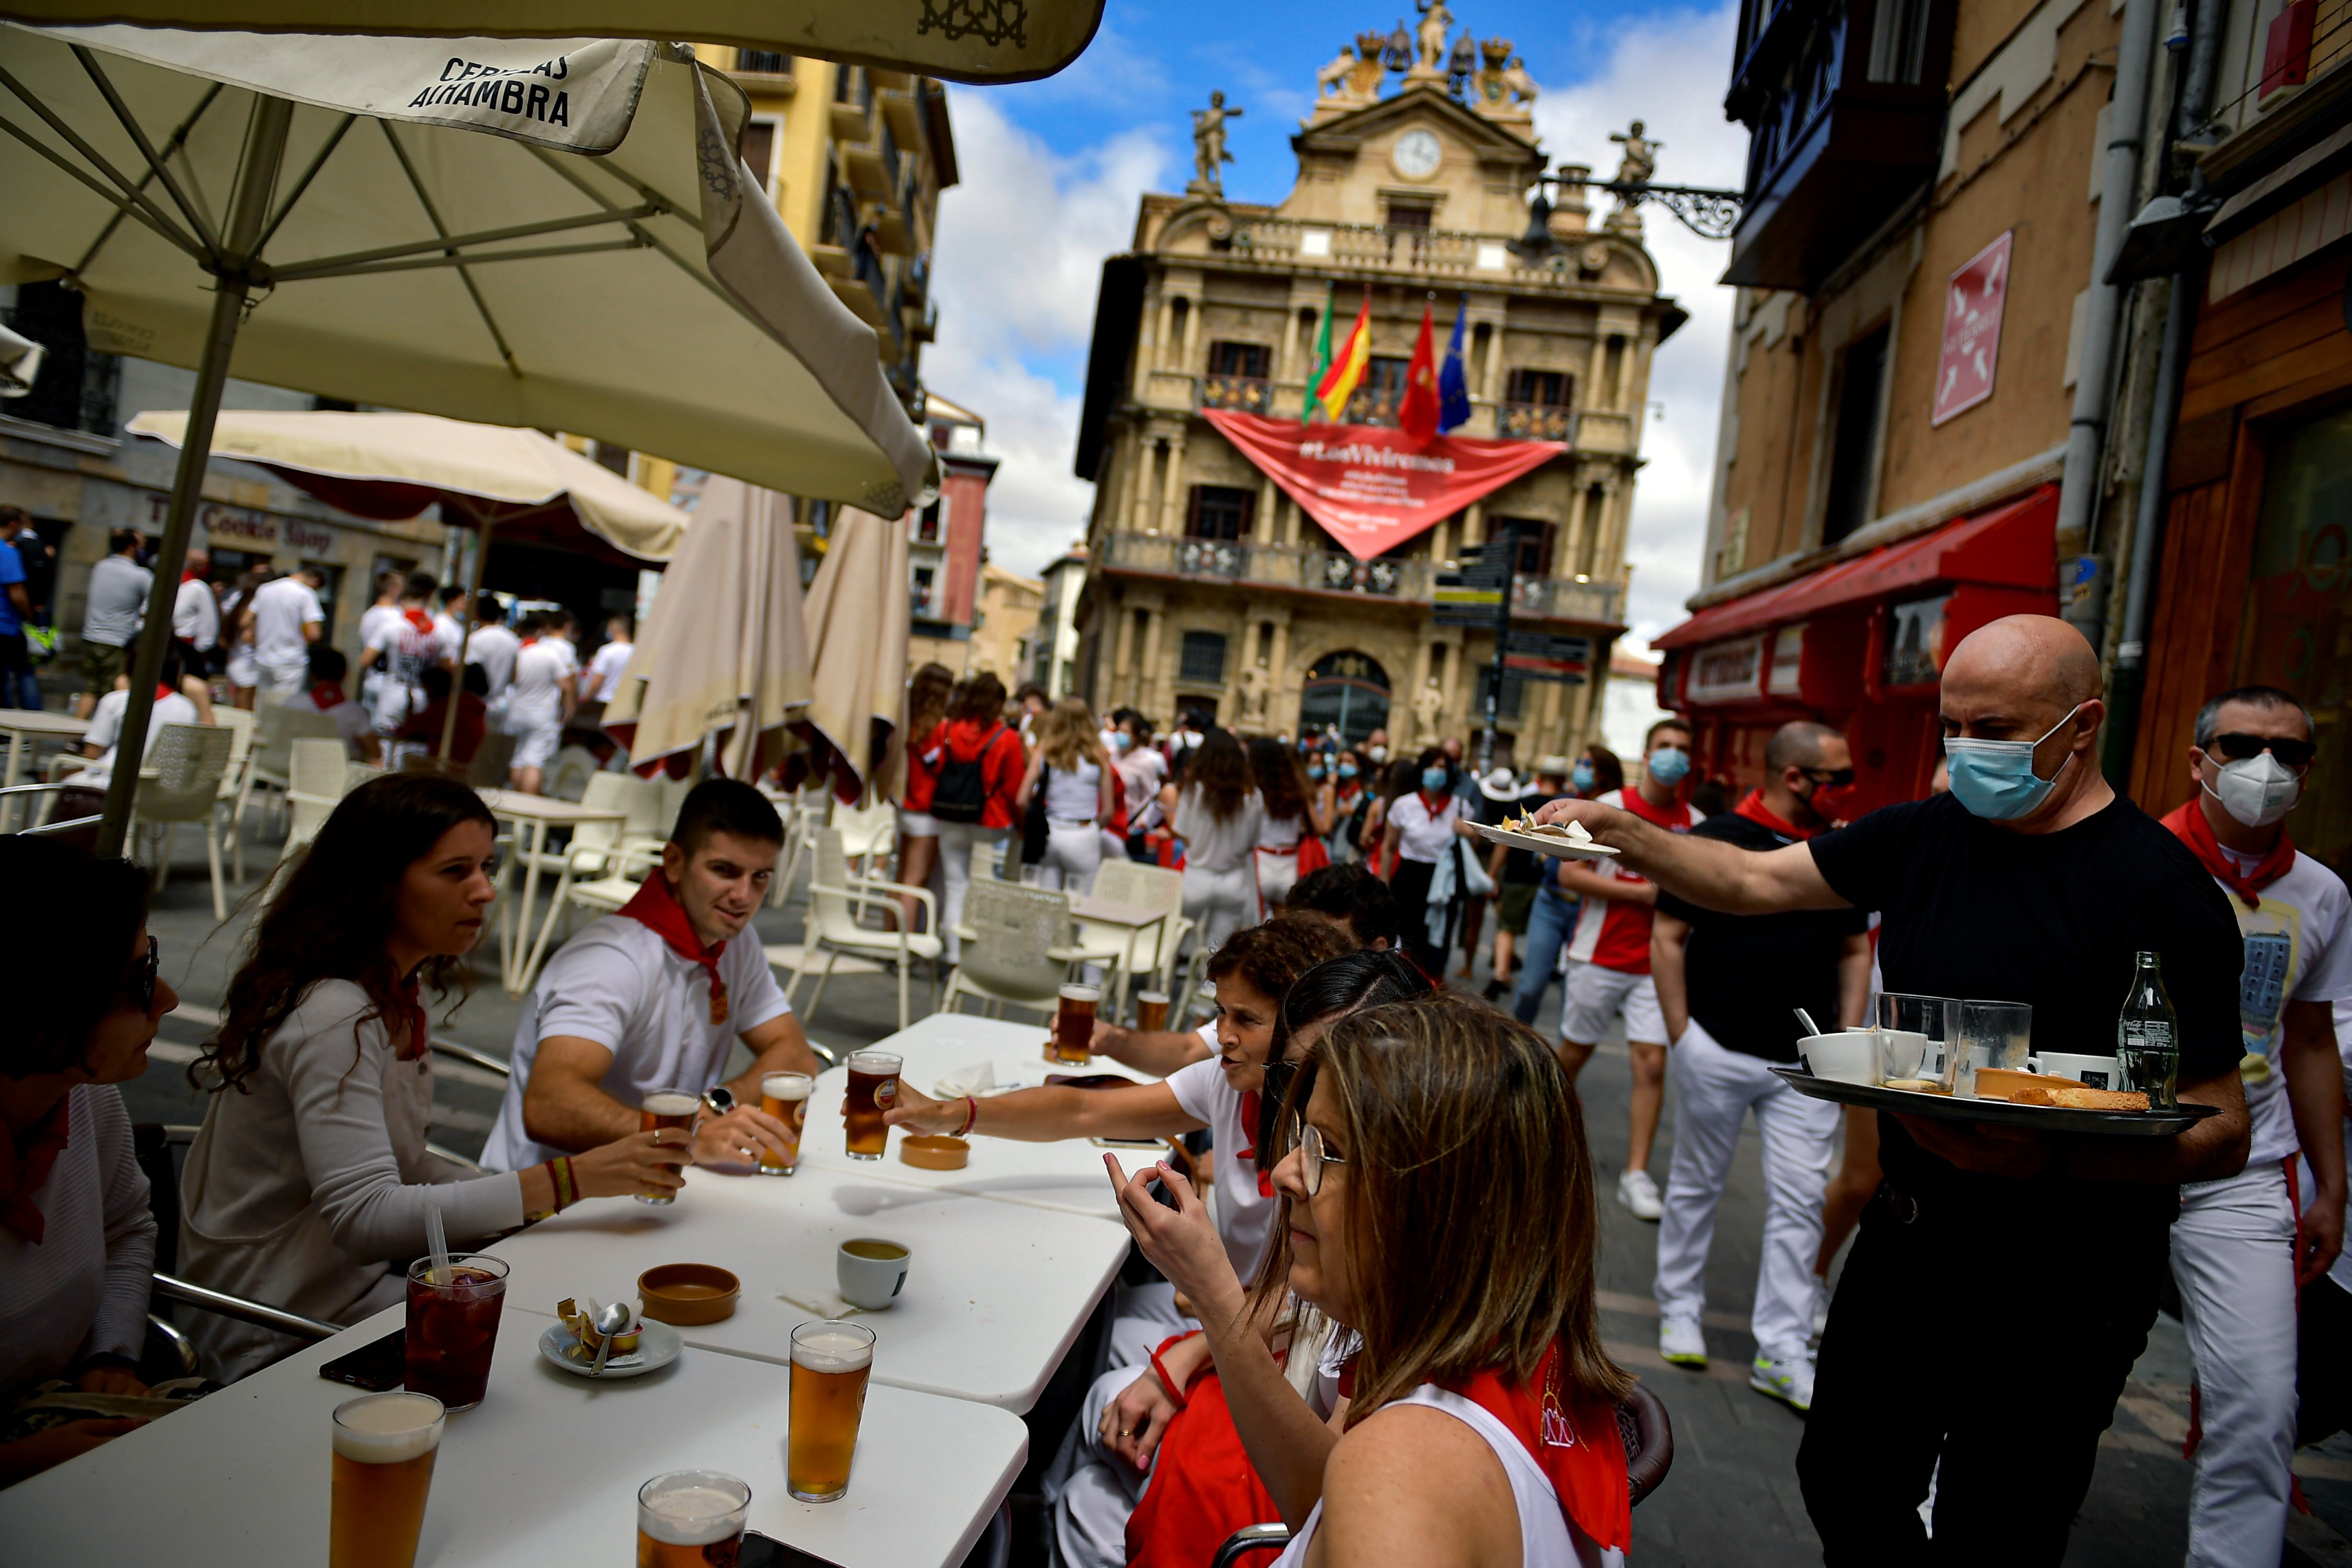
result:
<svg viewBox="0 0 2352 1568"><path fill-rule="evenodd" d="M327 1556L329 1413L360 1389L318 1375L402 1321L390 1307L186 1410L0 1493L0 1559L249 1568ZM637 1488L666 1469L750 1483L750 1528L842 1568L950 1568L1028 1453L1021 1420L873 1387L849 1495L783 1490L783 1366L687 1349L659 1373L588 1382L539 1359L550 1319L499 1324L489 1396L452 1415L419 1568L626 1563Z"/></svg>

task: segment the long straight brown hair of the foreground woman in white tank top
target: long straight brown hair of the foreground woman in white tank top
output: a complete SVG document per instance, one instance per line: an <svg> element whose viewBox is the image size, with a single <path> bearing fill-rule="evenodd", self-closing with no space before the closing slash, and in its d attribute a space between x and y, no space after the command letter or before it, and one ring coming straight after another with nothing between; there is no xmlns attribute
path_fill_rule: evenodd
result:
<svg viewBox="0 0 2352 1568"><path fill-rule="evenodd" d="M1585 1121L1550 1046L1439 992L1331 1025L1284 1095L1284 1143L1317 1081L1331 1086L1348 1157L1350 1328L1364 1335L1350 1425L1423 1382L1486 1368L1534 1378L1552 1340L1564 1382L1623 1399L1632 1380L1599 1340ZM1261 1305L1289 1286L1289 1204L1251 1288Z"/></svg>

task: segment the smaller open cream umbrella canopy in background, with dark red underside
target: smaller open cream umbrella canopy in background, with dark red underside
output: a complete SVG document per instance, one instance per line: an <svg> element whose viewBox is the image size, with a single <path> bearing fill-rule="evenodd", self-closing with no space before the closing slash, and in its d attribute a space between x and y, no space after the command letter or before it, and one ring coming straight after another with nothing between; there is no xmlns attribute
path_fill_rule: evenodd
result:
<svg viewBox="0 0 2352 1568"><path fill-rule="evenodd" d="M179 447L188 416L148 411L127 430ZM221 409L212 456L261 463L355 517L395 522L437 501L449 522L489 517L503 543L593 550L600 541L609 550L597 555L630 562L670 559L691 522L539 430L433 414Z"/></svg>

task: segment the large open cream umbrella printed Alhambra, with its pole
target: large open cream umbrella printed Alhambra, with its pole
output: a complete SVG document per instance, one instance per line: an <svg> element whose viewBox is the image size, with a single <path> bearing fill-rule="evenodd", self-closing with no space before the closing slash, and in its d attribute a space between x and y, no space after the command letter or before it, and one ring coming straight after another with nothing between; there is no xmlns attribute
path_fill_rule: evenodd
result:
<svg viewBox="0 0 2352 1568"><path fill-rule="evenodd" d="M736 155L748 99L680 47L0 26L0 280L64 277L92 348L198 369L125 745L230 371L889 512L936 487Z"/></svg>

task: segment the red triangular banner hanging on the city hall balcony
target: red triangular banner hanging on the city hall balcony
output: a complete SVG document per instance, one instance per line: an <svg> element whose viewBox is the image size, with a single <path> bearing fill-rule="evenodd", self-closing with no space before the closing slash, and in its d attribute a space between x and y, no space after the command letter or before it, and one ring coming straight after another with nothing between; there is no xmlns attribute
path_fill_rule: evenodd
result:
<svg viewBox="0 0 2352 1568"><path fill-rule="evenodd" d="M1569 449L1566 442L1468 435L1416 442L1383 425L1301 425L1228 409L1204 409L1204 416L1359 562L1395 550Z"/></svg>

